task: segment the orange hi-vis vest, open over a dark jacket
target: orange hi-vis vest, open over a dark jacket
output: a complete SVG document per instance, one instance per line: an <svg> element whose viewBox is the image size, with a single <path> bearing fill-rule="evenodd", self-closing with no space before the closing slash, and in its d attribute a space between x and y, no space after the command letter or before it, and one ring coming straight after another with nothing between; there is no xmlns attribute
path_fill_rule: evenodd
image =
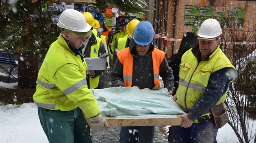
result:
<svg viewBox="0 0 256 143"><path fill-rule="evenodd" d="M132 66L133 66L133 56L130 54L130 49L125 48L117 53L119 61L124 66L123 78L125 86L132 86ZM159 67L165 57L165 53L161 50L154 48L152 51L152 61L153 61L153 73L154 73L154 84L153 89L160 89L159 80Z"/></svg>

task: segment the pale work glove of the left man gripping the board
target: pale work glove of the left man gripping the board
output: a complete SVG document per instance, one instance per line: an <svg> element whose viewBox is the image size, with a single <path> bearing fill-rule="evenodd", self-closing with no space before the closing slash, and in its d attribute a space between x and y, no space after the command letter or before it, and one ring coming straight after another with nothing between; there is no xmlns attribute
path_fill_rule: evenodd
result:
<svg viewBox="0 0 256 143"><path fill-rule="evenodd" d="M102 116L99 114L95 117L91 117L89 118L89 120L91 121L91 129L92 130L102 130L102 128L104 128L105 126L108 126L108 123L106 122L106 120L104 118L102 118Z"/></svg>

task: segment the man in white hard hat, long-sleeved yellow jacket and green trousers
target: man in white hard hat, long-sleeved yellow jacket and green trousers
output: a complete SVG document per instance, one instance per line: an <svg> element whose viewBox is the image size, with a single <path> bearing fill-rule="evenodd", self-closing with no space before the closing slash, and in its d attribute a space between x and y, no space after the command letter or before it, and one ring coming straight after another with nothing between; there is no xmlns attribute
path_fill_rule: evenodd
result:
<svg viewBox="0 0 256 143"><path fill-rule="evenodd" d="M107 122L87 88L87 65L81 53L91 26L73 9L63 11L57 25L61 35L46 54L33 95L39 120L50 143L92 143L82 112L92 130L101 130Z"/></svg>

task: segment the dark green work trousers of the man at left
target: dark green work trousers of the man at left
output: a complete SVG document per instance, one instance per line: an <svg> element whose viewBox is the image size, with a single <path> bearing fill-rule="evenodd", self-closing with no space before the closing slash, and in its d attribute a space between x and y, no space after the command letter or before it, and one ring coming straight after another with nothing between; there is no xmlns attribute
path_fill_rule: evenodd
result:
<svg viewBox="0 0 256 143"><path fill-rule="evenodd" d="M79 107L72 111L38 107L38 116L50 143L92 143L90 127Z"/></svg>

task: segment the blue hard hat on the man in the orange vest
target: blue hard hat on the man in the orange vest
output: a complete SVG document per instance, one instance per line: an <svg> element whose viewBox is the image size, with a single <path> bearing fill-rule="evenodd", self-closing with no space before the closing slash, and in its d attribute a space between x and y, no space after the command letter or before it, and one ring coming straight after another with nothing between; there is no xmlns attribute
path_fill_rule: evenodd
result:
<svg viewBox="0 0 256 143"><path fill-rule="evenodd" d="M133 30L132 38L136 44L148 45L154 39L154 29L150 22L141 21Z"/></svg>

